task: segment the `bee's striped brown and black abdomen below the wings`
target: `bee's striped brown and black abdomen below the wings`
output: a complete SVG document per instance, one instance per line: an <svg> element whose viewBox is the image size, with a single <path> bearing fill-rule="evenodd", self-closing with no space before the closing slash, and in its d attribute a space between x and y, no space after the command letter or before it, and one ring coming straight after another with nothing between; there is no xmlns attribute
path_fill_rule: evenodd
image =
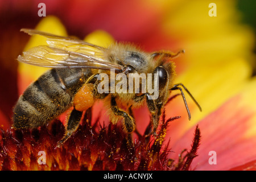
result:
<svg viewBox="0 0 256 182"><path fill-rule="evenodd" d="M90 69L51 69L25 90L14 107L14 127L45 125L72 106L73 97L92 75Z"/></svg>

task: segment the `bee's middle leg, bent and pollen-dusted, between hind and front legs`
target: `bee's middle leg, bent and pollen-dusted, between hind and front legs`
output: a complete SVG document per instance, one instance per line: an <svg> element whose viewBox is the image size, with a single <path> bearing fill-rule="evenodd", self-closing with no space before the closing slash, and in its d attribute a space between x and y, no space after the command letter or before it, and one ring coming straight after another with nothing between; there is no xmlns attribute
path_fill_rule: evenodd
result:
<svg viewBox="0 0 256 182"><path fill-rule="evenodd" d="M111 109L115 115L119 115L123 118L123 126L125 131L127 132L128 145L131 146L133 144L131 133L135 129L135 122L133 117L131 117L131 115L128 114L126 111L118 108L115 97L113 96L111 97Z"/></svg>

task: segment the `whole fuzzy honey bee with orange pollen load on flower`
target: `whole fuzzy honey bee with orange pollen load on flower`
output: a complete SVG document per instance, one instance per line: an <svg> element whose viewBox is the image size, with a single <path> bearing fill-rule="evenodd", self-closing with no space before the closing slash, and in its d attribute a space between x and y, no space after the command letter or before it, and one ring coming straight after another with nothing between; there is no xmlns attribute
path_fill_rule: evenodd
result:
<svg viewBox="0 0 256 182"><path fill-rule="evenodd" d="M28 86L19 97L14 107L15 129L35 129L46 125L73 107L67 118L64 137L57 143L57 146L61 146L77 130L83 111L92 107L96 100L105 100L110 121L115 124L122 120L123 130L129 136L135 130L132 108L147 105L151 114L151 134L156 135L160 115L172 90L180 91L189 120L191 114L183 89L201 110L200 105L183 84L174 84L175 64L171 59L183 51L146 53L129 43L114 43L104 48L79 39L38 30L23 28L21 31L29 35L46 37L48 45L28 49L23 55L18 56L18 61L52 69ZM130 73L144 73L147 74L146 77L148 74L154 74L153 77L158 84L150 84L158 86L158 97L152 99L152 93L147 90L142 93L142 79L139 81L137 93L134 91L138 85L133 85L133 92L129 93L118 92L120 89L113 91L110 86L117 86L120 80L113 81L107 78L104 79L108 81L104 89L109 92L98 92L102 73L110 77L111 74L115 77L120 73L124 76ZM125 80L126 77L122 79Z"/></svg>

